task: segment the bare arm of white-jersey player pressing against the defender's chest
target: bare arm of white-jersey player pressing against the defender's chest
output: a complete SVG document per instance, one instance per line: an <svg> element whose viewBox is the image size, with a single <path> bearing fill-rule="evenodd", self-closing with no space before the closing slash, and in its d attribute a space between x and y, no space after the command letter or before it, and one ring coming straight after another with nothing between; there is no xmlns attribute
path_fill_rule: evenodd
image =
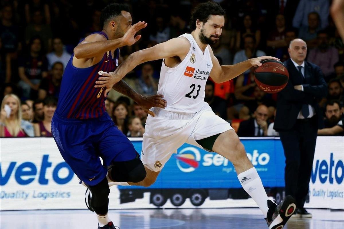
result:
<svg viewBox="0 0 344 229"><path fill-rule="evenodd" d="M128 72L139 64L147 61L155 61L157 59L178 56L183 60L190 49L190 42L184 38L173 38L169 41L157 44L151 48L132 53L128 58L116 69L115 72L104 73L96 81L95 87L106 87L104 96L107 92L119 82Z"/></svg>

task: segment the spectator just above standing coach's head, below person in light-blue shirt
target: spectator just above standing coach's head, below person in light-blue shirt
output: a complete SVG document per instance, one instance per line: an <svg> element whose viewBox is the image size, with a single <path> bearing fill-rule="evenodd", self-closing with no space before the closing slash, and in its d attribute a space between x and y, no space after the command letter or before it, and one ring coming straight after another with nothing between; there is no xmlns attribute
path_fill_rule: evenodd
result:
<svg viewBox="0 0 344 229"><path fill-rule="evenodd" d="M318 44L317 33L321 30L319 14L311 12L308 14L308 25L299 30L299 37L304 40L308 48L314 48Z"/></svg>

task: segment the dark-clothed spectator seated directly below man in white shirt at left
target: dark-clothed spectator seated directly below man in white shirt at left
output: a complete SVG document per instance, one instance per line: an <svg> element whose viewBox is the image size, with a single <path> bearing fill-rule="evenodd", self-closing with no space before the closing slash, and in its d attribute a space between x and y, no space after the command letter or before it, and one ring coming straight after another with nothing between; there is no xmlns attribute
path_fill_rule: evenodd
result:
<svg viewBox="0 0 344 229"><path fill-rule="evenodd" d="M55 62L51 75L42 79L39 90L38 98L44 99L46 96L54 96L58 98L60 94L60 86L63 75L63 64L61 62Z"/></svg>

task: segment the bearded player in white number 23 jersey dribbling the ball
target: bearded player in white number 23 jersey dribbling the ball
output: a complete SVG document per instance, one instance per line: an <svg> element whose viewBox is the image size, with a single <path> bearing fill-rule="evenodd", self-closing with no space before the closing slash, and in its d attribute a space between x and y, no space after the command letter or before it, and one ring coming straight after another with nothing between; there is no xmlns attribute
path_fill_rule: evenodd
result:
<svg viewBox="0 0 344 229"><path fill-rule="evenodd" d="M99 77L95 87L106 87L106 95L137 65L163 59L158 94L164 95L167 106L165 109L151 109L155 117L147 118L141 159L147 176L142 182L129 185L147 187L153 184L172 153L186 142L216 152L231 161L239 182L256 201L269 228L281 229L295 210L294 199L287 196L279 205L268 200L261 179L237 134L204 102L205 83L209 76L216 83L222 83L252 66L261 66L260 61L264 59L278 60L263 56L220 66L209 44L218 41L225 22L224 14L225 11L216 2L199 4L192 13L191 34L131 54L114 73Z"/></svg>

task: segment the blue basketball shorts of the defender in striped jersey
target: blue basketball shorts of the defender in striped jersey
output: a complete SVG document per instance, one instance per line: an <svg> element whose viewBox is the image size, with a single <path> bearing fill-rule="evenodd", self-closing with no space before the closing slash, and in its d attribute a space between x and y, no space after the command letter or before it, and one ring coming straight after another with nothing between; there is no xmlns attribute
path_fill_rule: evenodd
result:
<svg viewBox="0 0 344 229"><path fill-rule="evenodd" d="M129 161L137 156L133 144L107 113L86 120L67 119L55 113L51 131L63 159L87 185L103 180L111 162Z"/></svg>

